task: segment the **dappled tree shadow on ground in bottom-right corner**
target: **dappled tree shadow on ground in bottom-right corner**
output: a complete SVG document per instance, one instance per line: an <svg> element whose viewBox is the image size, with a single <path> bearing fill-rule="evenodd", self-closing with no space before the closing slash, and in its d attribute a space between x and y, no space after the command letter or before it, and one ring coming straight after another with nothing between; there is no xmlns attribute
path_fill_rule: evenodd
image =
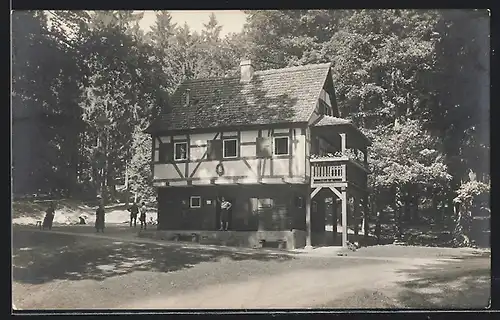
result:
<svg viewBox="0 0 500 320"><path fill-rule="evenodd" d="M484 309L491 294L491 259L475 256L445 264L401 270L410 280L401 282L397 300L411 309Z"/></svg>

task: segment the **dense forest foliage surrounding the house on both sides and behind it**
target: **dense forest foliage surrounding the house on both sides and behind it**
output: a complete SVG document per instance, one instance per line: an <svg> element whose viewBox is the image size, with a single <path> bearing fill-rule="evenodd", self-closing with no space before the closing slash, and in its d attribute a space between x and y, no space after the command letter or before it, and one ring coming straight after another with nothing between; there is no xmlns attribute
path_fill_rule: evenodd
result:
<svg viewBox="0 0 500 320"><path fill-rule="evenodd" d="M37 170L71 192L114 190L127 172L131 190L152 197L151 147L141 130L183 80L236 75L251 58L257 69L333 63L342 116L374 142L377 207L413 219L427 200L451 210L456 197L487 192L486 11L246 14L242 32L221 37L214 15L197 33L157 11L145 33L141 13L15 12L13 107L64 116L47 126L51 151L40 151ZM471 170L477 181L461 184Z"/></svg>

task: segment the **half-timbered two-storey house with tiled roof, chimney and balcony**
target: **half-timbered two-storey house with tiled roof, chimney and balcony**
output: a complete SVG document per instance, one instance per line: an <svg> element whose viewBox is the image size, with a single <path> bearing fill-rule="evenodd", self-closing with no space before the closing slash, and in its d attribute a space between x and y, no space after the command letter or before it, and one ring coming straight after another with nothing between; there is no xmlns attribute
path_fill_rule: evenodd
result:
<svg viewBox="0 0 500 320"><path fill-rule="evenodd" d="M335 243L325 237L331 210L332 237L339 221L346 246L361 202L366 218L370 141L340 118L330 64L255 71L247 60L240 77L186 81L146 132L165 237ZM229 231L217 231L221 197L233 205Z"/></svg>

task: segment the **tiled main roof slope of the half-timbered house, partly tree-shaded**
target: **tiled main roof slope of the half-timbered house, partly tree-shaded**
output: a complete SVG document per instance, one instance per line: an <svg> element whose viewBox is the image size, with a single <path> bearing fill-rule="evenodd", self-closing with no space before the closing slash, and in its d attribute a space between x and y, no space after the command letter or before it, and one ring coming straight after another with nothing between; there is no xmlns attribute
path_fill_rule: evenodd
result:
<svg viewBox="0 0 500 320"><path fill-rule="evenodd" d="M146 131L307 122L330 66L255 71L248 83L241 83L239 77L186 81L171 96L170 108Z"/></svg>

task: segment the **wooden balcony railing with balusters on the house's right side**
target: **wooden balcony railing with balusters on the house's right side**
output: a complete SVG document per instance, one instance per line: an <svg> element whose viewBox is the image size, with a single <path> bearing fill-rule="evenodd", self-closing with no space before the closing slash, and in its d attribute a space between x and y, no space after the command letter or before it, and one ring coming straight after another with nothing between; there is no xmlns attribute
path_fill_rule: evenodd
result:
<svg viewBox="0 0 500 320"><path fill-rule="evenodd" d="M349 182L366 188L368 168L347 156L311 158L311 186Z"/></svg>

